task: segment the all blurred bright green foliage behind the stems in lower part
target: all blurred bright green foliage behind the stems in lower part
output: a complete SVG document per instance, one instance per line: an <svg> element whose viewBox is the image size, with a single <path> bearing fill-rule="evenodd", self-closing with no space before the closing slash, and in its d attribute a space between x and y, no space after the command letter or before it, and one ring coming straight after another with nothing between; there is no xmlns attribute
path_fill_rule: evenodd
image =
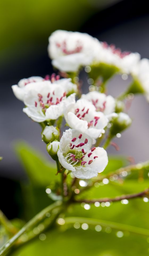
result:
<svg viewBox="0 0 149 256"><path fill-rule="evenodd" d="M56 169L52 163L26 143L18 143L15 149L30 180L28 186L32 190L33 197L29 194L27 201L30 202L30 205L35 201L39 204L39 202L45 200L45 187L49 185L51 180L55 183L60 176L55 176ZM128 165L126 158L111 156L105 171L100 174L100 177L126 165ZM134 172L138 173L139 171ZM143 171L148 172L145 169ZM47 180L47 177L49 177L49 180ZM67 179L70 179L70 175ZM81 195L76 195L76 199L112 198L122 194L140 192L148 187L147 175L146 179L142 178L141 181L140 183L139 175L130 174L125 179L119 177L119 179L110 181L106 185L99 182L89 190L84 190ZM40 189L43 189L44 193L40 193ZM26 207L27 211L30 210L29 205ZM103 207L103 205L95 207L92 204L89 210L85 210L81 204L71 204L65 214L60 215L61 218L66 217L65 225L46 232L43 231L46 236L39 235L35 240L18 248L11 256L38 256L41 254L45 256L70 254L71 256L88 256L91 254L95 256L146 256L148 253L148 236L145 236L145 234L149 234L148 214L149 204L141 198L132 199L126 205L120 201L111 204L109 207ZM79 229L73 228L74 223L68 221L70 217L74 220L74 223L78 222L79 217L80 225L82 224L81 217L84 219L84 223L88 221L88 230L82 230L81 227ZM95 230L98 221L102 227L100 232ZM134 226L134 228L129 228L128 225ZM135 231L137 233L137 230L140 230L139 228L144 228L144 235L139 234L139 232L138 234L131 232L134 230L134 233ZM117 237L118 231L123 232L123 237ZM43 237L44 241L42 240Z"/></svg>

